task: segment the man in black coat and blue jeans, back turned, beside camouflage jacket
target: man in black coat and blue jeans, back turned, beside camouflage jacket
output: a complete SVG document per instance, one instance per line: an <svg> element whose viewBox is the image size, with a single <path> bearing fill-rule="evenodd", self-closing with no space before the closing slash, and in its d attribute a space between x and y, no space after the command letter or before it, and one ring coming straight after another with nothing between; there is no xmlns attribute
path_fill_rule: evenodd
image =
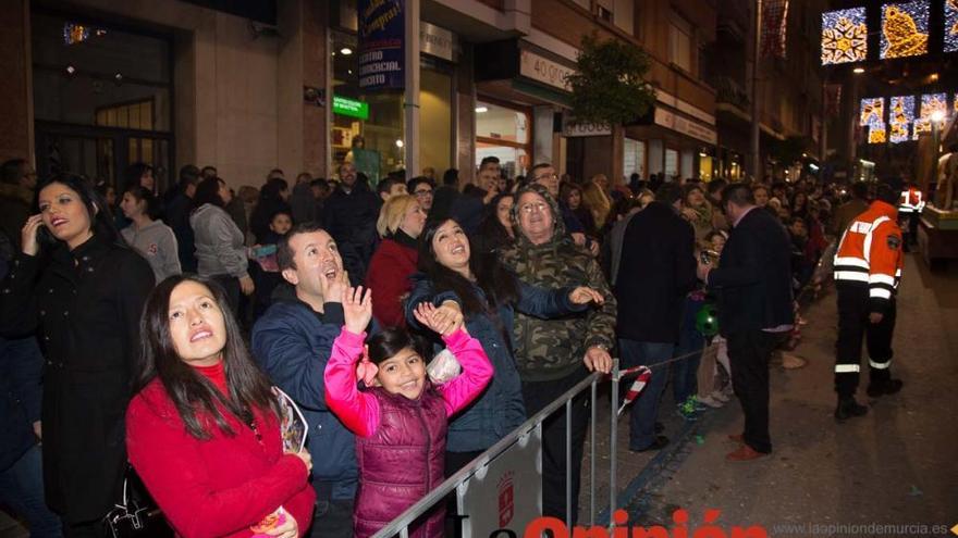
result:
<svg viewBox="0 0 958 538"><path fill-rule="evenodd" d="M651 367L671 359L675 350L683 300L696 284L696 233L679 215L680 204L681 188L665 184L626 227L615 281L623 367ZM632 404L630 450L658 450L668 443L668 438L655 435L659 397L667 378L666 368L653 370Z"/></svg>

